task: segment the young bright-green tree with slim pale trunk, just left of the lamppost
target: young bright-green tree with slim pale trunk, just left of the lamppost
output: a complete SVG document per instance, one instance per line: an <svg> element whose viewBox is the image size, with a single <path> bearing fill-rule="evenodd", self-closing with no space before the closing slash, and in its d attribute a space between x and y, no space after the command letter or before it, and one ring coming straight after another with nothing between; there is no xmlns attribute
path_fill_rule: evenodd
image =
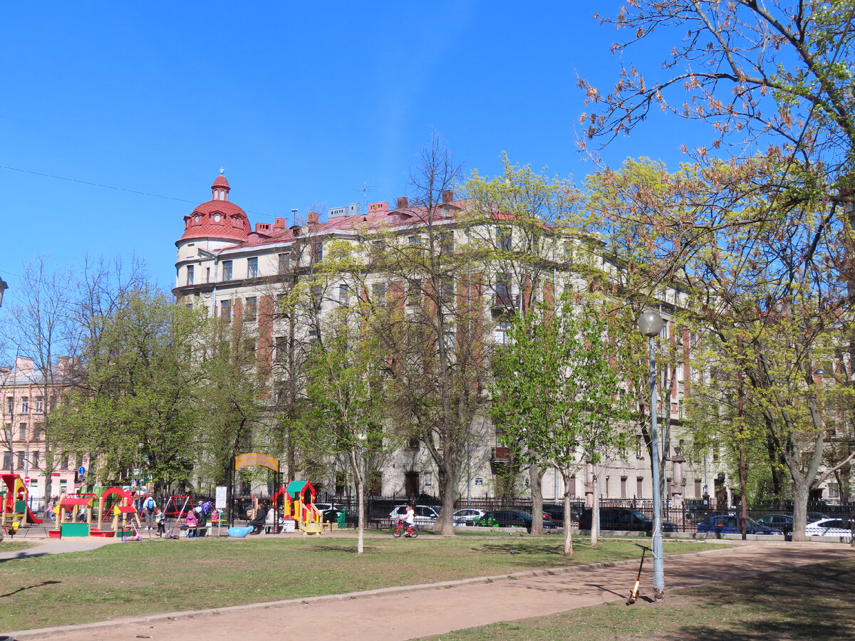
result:
<svg viewBox="0 0 855 641"><path fill-rule="evenodd" d="M564 554L572 555L573 476L586 462L626 446L629 413L620 394L617 345L592 303L533 309L514 320L510 338L495 359L492 418L509 443L523 444L561 473Z"/></svg>

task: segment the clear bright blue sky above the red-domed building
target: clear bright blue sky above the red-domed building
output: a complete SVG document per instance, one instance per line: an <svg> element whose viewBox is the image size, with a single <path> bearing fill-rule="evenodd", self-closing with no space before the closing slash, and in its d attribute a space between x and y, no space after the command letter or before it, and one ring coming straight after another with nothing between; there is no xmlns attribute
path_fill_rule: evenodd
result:
<svg viewBox="0 0 855 641"><path fill-rule="evenodd" d="M220 167L253 225L313 203L362 203L363 183L369 202L393 201L434 131L467 173L496 173L504 150L581 179L593 167L575 147L585 109L575 74L613 84L616 32L593 12L617 4L7 5L7 301L39 252L57 267L136 252L173 287L183 216L210 198ZM651 57L633 62L655 69L669 49L636 50ZM675 165L685 132L652 121L605 157Z"/></svg>

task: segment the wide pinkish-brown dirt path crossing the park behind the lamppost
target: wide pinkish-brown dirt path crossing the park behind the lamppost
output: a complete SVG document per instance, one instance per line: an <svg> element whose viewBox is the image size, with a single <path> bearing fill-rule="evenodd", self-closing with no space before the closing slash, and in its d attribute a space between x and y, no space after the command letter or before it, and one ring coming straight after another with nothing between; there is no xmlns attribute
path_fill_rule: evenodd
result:
<svg viewBox="0 0 855 641"><path fill-rule="evenodd" d="M855 557L855 550L827 544L749 544L665 560L669 590L737 579L799 565ZM398 588L345 597L316 597L197 613L117 620L107 625L15 632L17 639L131 641L136 638L285 638L324 634L352 639L408 639L463 627L550 615L625 599L637 562L615 567L572 568L560 573L524 573L516 579L474 579L420 589ZM641 597L650 594L652 571L645 564Z"/></svg>

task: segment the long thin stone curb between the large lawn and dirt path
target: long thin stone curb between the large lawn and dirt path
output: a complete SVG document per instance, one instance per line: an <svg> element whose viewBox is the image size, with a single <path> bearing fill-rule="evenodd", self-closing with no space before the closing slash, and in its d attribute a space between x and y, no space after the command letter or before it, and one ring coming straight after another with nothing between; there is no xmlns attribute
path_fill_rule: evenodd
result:
<svg viewBox="0 0 855 641"><path fill-rule="evenodd" d="M718 548L716 550L699 550L698 552L686 552L684 554L669 555L669 558L681 556L700 556L721 554L728 552L728 548ZM566 566L566 567L548 567L539 570L526 570L525 572L516 572L510 574L497 574L493 576L472 577L469 579L456 579L452 581L441 581L439 583L426 583L418 585L396 585L386 588L376 588L374 590L365 590L359 592L345 592L343 594L325 594L317 597L300 597L293 599L285 599L281 601L268 601L262 603L245 603L243 605L228 605L222 608L208 608L202 610L182 610L179 612L164 612L156 615L144 615L126 617L121 619L112 619L105 621L94 621L91 623L78 623L72 626L54 626L33 628L30 630L21 630L15 632L3 632L12 638L37 638L50 636L59 632L75 632L78 630L92 630L103 627L122 626L129 624L143 624L154 621L175 620L175 619L192 619L196 616L204 615L221 615L226 612L245 612L255 609L268 608L287 608L295 605L308 605L309 603L324 603L344 601L350 599L363 599L370 597L380 597L388 594L400 594L404 592L415 592L422 590L439 590L457 587L458 585L471 585L475 583L492 583L496 581L507 581L515 579L528 579L529 577L538 576L557 576L560 574L568 574L573 572L589 572L609 567L636 566L637 559L627 559L624 561L610 561L600 563L586 563L584 565Z"/></svg>

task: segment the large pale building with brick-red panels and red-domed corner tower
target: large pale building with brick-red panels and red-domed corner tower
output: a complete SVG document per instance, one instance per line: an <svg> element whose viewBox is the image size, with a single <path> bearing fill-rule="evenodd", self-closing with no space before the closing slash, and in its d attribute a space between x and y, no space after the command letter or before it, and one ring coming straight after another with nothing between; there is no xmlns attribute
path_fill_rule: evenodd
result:
<svg viewBox="0 0 855 641"><path fill-rule="evenodd" d="M270 399L284 393L295 362L295 352L300 345L310 344L323 331L323 319L337 305L346 304L351 297L395 298L394 284L377 274L370 273L370 244L366 230L385 230L386 238L398 238L410 248L424 247L422 227L424 218L419 207L410 206L407 198L398 198L396 207L389 203L369 203L363 212L358 204L330 209L326 220L321 221L318 213L307 215L304 224L287 225L285 219L276 218L272 224L256 223L251 226L245 211L231 201L231 187L220 175L211 185L211 199L193 209L184 217L184 231L176 241L176 281L173 290L176 298L184 304L203 306L209 315L215 315L240 326L257 352L257 367L270 378ZM486 241L504 249L514 241L515 233L508 221L485 221L480 226L463 227L459 222L466 213L468 203L455 200L451 191L442 194L442 203L431 224L440 230L437 238L447 246L463 246ZM328 252L337 246L350 244L355 252L366 257L369 272L361 283L345 278L328 280L322 289L313 291L315 303L309 315L297 317L282 313L285 297L301 279L307 279L321 267ZM481 305L489 335L501 344L504 328L510 315L520 304L522 297L533 301L552 302L563 291L578 291L587 286L587 281L568 267L568 263L554 256L568 252L568 241L557 239L550 250L551 267L545 276L532 279L529 276L513 275L514 266L493 266L491 273L482 274L479 285L478 304ZM451 298L457 296L458 304L465 299L474 300L472 289L475 279L467 284L451 282ZM316 285L314 285L316 286ZM469 288L469 293L465 289ZM463 293L462 293L463 292ZM398 292L402 305L409 304L405 291ZM689 337L668 322L663 338L689 349ZM730 482L722 472L722 465L712 460L686 462L681 456L683 442L679 437L682 414L682 399L687 393L685 385L689 377L688 363L676 369L676 380L671 391L670 403L663 409L668 411L677 436L672 439L666 466L668 477L667 497L675 503L685 499L701 499L705 496L719 497L727 502ZM661 413L660 413L661 414ZM476 442L468 444L465 452L460 497L496 497L504 490L506 479L499 479L510 461L510 450L499 444L495 431L486 416L479 416ZM650 499L652 480L650 458L640 435L636 438L634 451L627 460L610 461L599 470L599 494L603 498ZM574 479L571 493L575 497L593 500L590 466ZM341 490L345 485L344 474L333 468L330 478L321 485L327 491ZM312 479L313 482L315 479ZM319 481L321 479L318 479ZM526 475L520 474L515 481L517 491L527 492ZM393 456L381 462L378 474L369 482L369 493L386 497L415 497L439 494L437 470L428 452L415 440ZM563 481L559 474L549 470L543 479L546 501L560 500L563 496Z"/></svg>

